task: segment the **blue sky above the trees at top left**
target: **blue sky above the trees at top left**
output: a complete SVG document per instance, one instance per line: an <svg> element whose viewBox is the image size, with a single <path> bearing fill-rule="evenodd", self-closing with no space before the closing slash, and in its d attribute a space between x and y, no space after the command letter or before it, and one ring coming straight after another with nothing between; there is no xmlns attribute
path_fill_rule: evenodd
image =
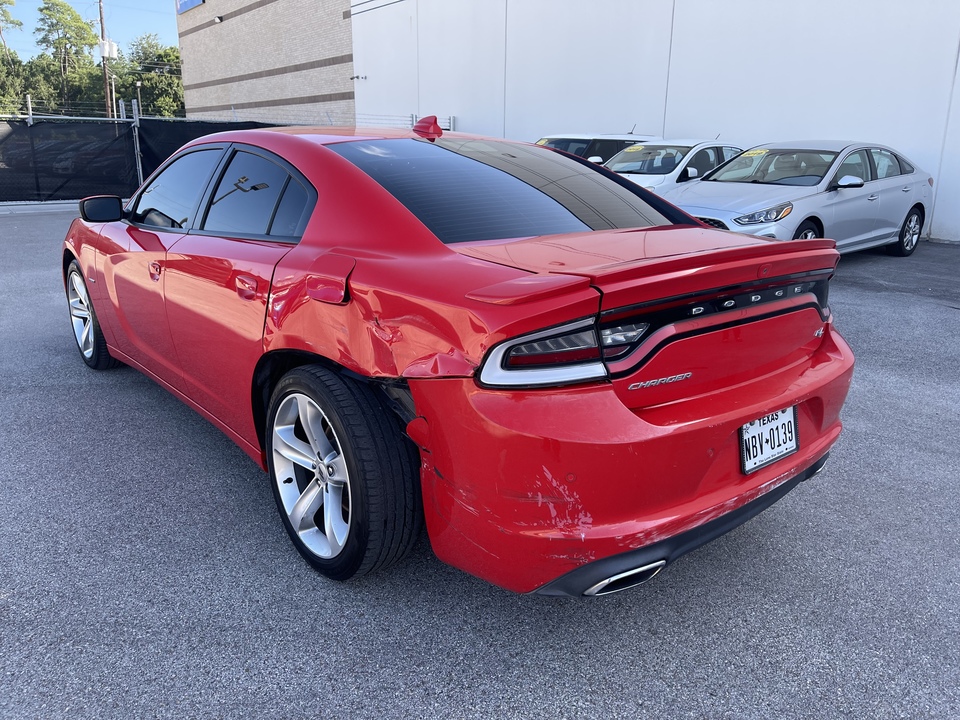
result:
<svg viewBox="0 0 960 720"><path fill-rule="evenodd" d="M4 30L3 36L11 50L21 60L29 60L40 53L34 43L33 30L37 26L37 8L42 0L16 0L10 14L23 27ZM100 5L97 0L68 0L84 20L94 22L94 31L100 35ZM107 37L127 51L130 41L144 33L154 33L164 45L178 44L176 0L103 0L104 24ZM99 59L96 49L94 55Z"/></svg>

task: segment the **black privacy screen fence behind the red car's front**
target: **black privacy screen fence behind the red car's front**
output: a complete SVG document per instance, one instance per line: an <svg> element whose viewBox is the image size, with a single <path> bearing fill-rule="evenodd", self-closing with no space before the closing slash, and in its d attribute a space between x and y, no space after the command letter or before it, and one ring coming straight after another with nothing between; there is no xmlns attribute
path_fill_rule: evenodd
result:
<svg viewBox="0 0 960 720"><path fill-rule="evenodd" d="M137 149L146 178L184 143L255 122L140 118L0 120L0 202L129 197L139 186Z"/></svg>

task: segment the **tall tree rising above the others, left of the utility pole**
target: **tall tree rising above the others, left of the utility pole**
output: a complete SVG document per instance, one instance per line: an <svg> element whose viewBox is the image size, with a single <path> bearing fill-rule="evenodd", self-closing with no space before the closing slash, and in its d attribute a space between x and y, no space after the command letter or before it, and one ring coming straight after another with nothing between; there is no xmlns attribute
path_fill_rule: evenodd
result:
<svg viewBox="0 0 960 720"><path fill-rule="evenodd" d="M40 20L34 35L37 45L47 50L56 60L60 71L60 98L63 105L70 102L70 86L82 84L78 78L71 81L73 71L86 75L93 65L92 48L97 44L93 23L80 17L65 0L43 0L40 4Z"/></svg>

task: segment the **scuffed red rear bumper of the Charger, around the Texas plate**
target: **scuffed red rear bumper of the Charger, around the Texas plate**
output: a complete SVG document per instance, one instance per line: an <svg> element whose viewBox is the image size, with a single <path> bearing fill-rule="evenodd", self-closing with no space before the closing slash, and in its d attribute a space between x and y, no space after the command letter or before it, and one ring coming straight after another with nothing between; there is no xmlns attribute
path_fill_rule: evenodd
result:
<svg viewBox="0 0 960 720"><path fill-rule="evenodd" d="M579 595L739 525L815 472L840 434L853 356L827 327L802 366L649 411L607 383L411 380L434 552L515 592ZM741 425L792 405L799 450L744 475Z"/></svg>

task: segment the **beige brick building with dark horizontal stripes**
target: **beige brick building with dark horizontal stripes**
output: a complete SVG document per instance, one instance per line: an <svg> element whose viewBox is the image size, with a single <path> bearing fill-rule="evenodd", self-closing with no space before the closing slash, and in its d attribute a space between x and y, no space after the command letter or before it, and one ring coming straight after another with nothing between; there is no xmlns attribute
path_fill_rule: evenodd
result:
<svg viewBox="0 0 960 720"><path fill-rule="evenodd" d="M354 124L349 0L204 0L177 30L187 117Z"/></svg>

